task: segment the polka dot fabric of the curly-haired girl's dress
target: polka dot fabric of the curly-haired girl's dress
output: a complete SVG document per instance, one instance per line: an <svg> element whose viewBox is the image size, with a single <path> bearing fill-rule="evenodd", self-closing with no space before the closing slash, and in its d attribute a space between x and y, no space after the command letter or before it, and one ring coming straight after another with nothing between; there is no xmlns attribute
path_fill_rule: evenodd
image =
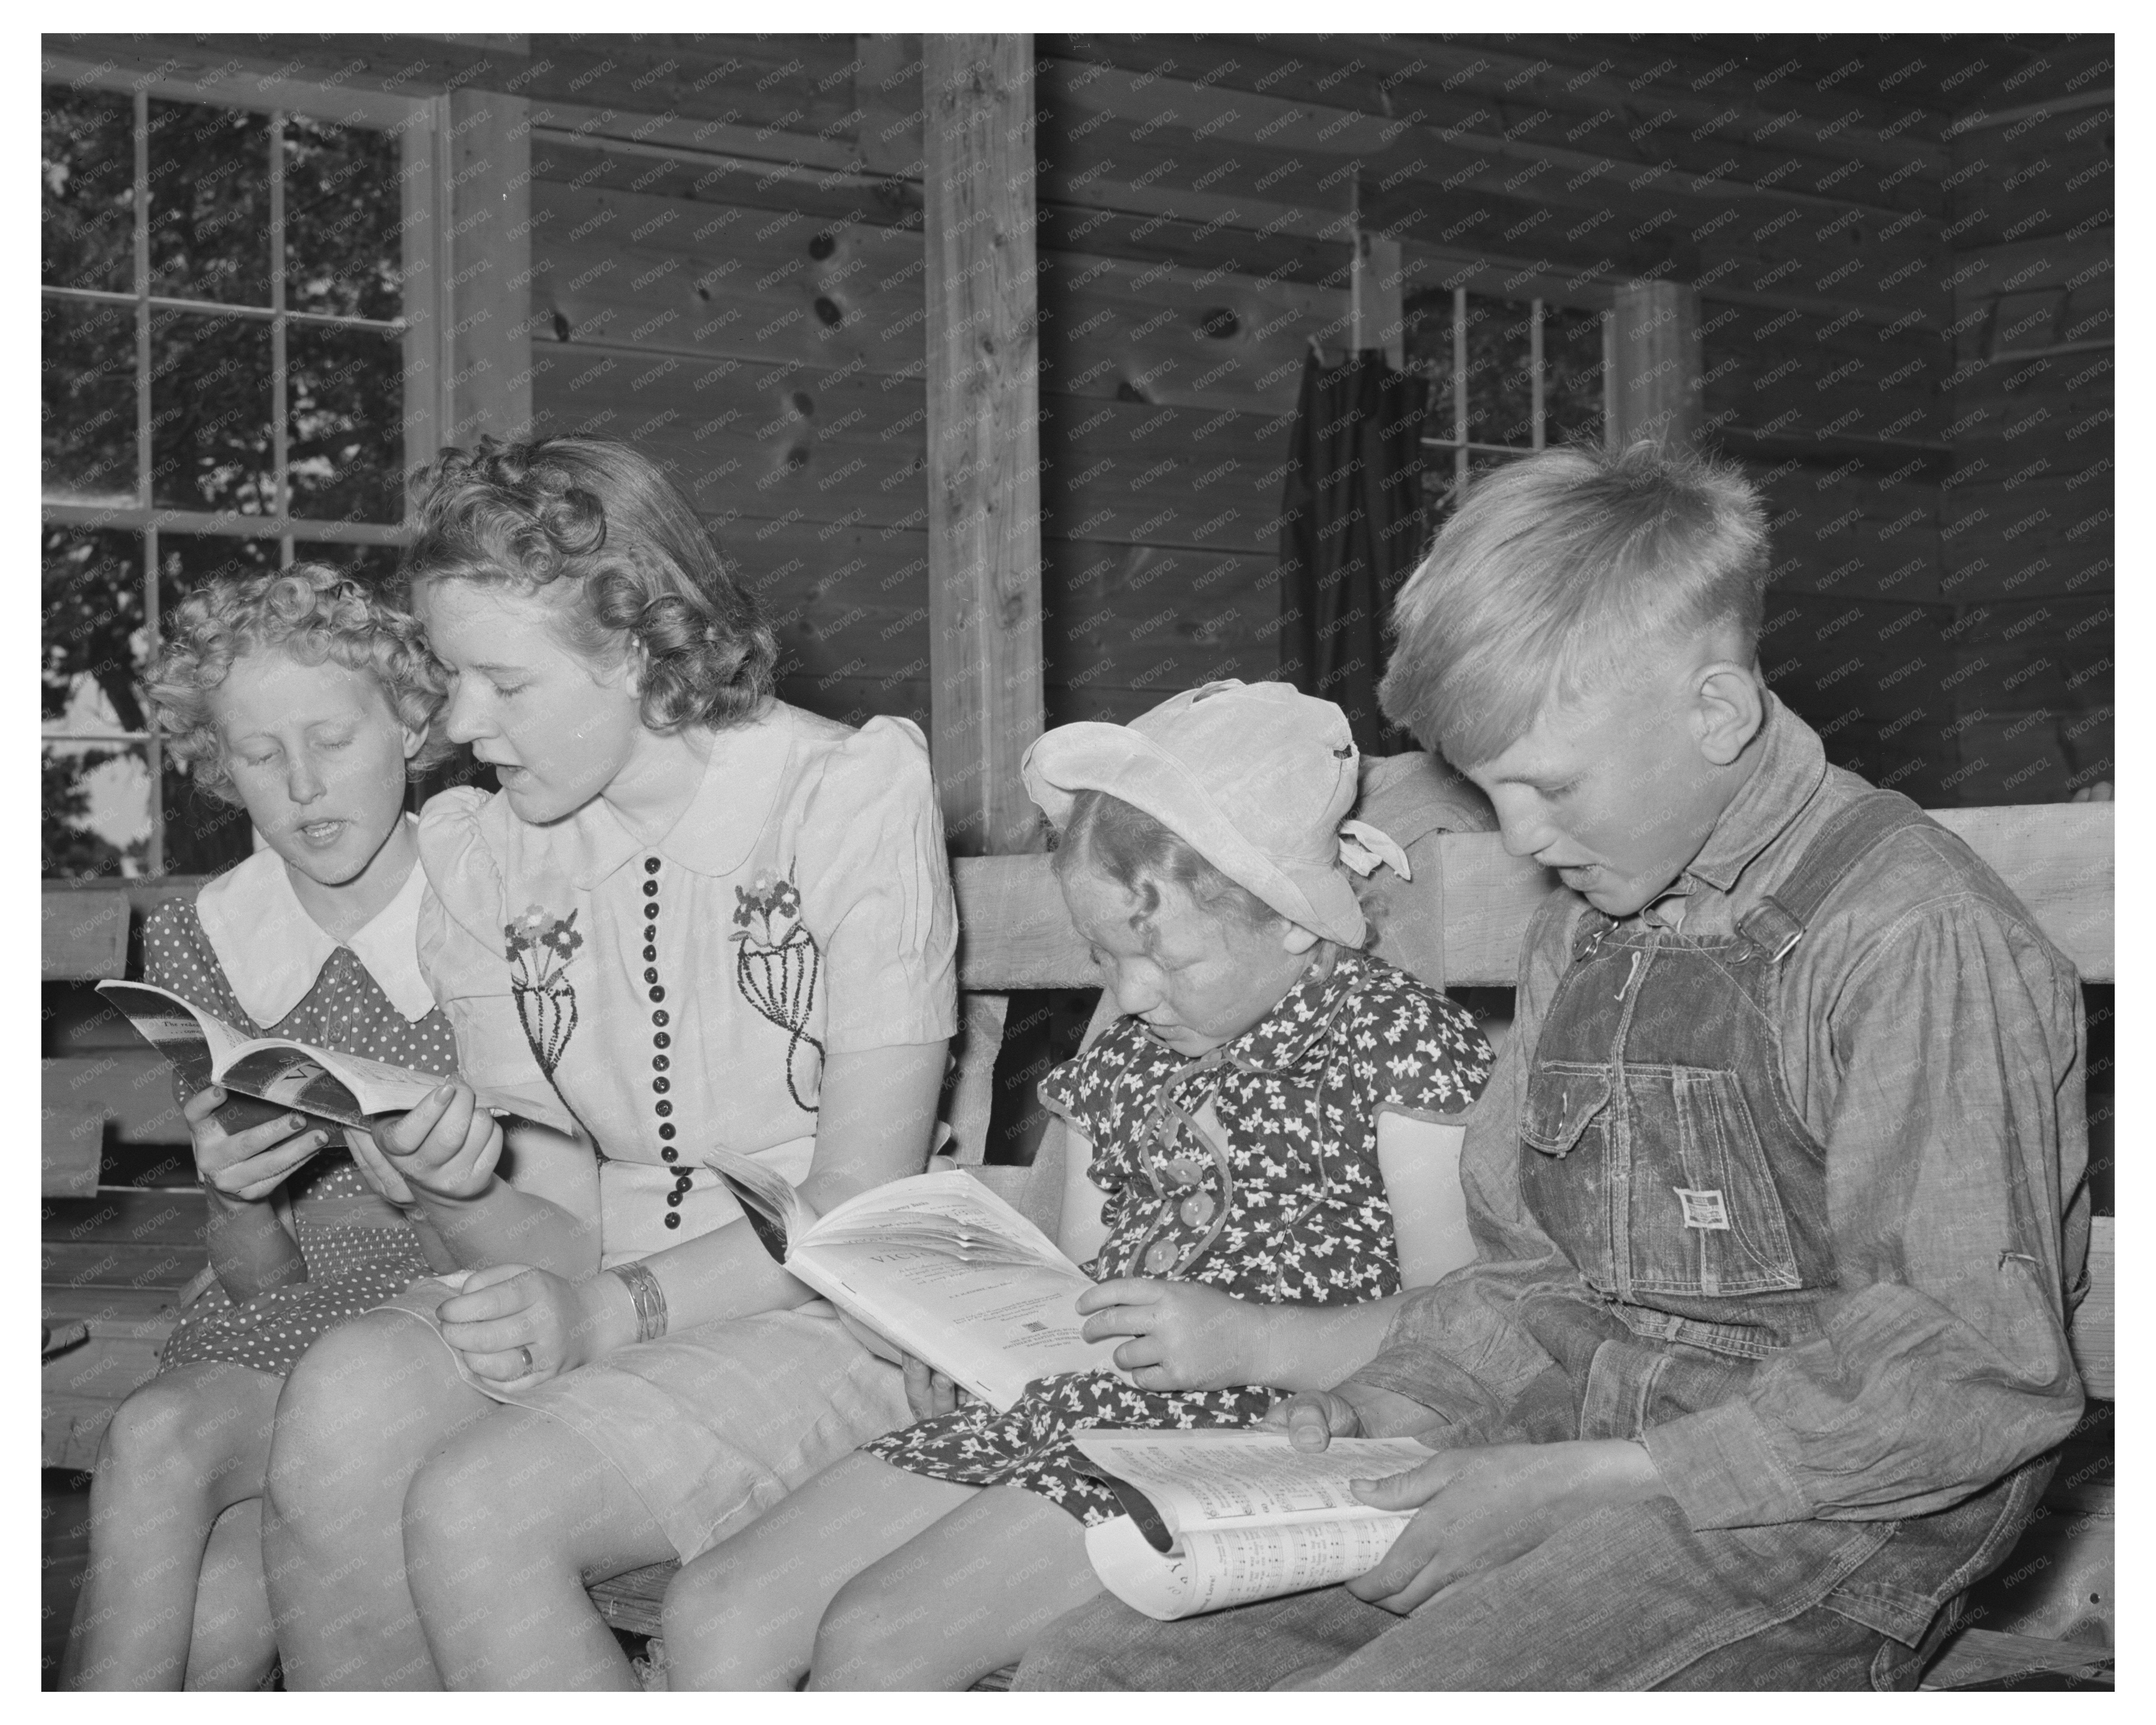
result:
<svg viewBox="0 0 2156 1725"><path fill-rule="evenodd" d="M429 1011L407 1020L349 947L338 947L306 996L276 1024L254 1024L233 994L192 901L166 901L142 929L142 981L168 988L248 1035L280 1035L407 1065L455 1072L457 1041L448 1020ZM306 1281L270 1287L235 1302L211 1287L188 1307L164 1350L164 1369L196 1361L231 1361L282 1378L317 1337L358 1317L429 1274L418 1236L403 1223L377 1227L345 1220L379 1216L358 1167L328 1149L285 1186L300 1233Z"/></svg>

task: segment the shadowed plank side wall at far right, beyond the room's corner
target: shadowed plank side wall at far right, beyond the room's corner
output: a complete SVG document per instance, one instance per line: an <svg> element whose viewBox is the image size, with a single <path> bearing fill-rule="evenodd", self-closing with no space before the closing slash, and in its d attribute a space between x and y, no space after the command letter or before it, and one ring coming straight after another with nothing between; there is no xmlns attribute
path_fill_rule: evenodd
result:
<svg viewBox="0 0 2156 1725"><path fill-rule="evenodd" d="M2065 78L1953 138L1953 485L1943 586L1962 802L2050 802L2113 768L2113 112ZM2046 88L2048 84L2048 88ZM2009 110L2012 112L2012 110Z"/></svg>

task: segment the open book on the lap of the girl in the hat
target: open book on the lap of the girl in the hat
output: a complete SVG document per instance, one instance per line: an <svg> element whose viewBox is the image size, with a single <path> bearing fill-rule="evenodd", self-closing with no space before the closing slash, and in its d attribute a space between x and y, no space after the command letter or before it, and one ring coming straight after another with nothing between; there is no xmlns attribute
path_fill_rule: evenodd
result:
<svg viewBox="0 0 2156 1725"><path fill-rule="evenodd" d="M1084 1270L972 1175L893 1179L817 1216L772 1169L705 1160L789 1274L998 1412L1035 1378L1115 1369L1117 1339L1078 1333Z"/></svg>

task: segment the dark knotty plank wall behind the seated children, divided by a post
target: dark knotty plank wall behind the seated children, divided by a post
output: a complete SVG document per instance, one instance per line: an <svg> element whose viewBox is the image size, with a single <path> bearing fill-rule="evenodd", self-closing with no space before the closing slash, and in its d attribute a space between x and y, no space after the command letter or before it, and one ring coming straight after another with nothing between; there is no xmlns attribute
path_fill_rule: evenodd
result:
<svg viewBox="0 0 2156 1725"><path fill-rule="evenodd" d="M1768 666L1837 759L1999 802L2106 757L2104 681L2061 688L2109 656L2065 634L2109 604L2106 356L1981 351L1996 295L2109 310L2109 125L1945 136L1906 99L1925 41L1826 75L1789 41L1037 37L1048 722L1279 666L1289 416L1309 343L1348 341L1360 218L1408 293L1699 287L1708 438L1772 507ZM675 466L789 699L925 718L916 37L129 45L526 101L537 420ZM1953 104L2085 95L2098 52Z"/></svg>

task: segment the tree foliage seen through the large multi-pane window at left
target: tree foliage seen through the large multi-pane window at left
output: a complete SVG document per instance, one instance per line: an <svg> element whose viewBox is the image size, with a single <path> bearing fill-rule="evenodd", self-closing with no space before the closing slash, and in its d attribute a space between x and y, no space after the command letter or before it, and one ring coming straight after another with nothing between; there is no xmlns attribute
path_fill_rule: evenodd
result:
<svg viewBox="0 0 2156 1725"><path fill-rule="evenodd" d="M166 761L157 619L298 556L384 578L403 533L403 177L392 132L43 91L43 869L198 873L246 817Z"/></svg>

